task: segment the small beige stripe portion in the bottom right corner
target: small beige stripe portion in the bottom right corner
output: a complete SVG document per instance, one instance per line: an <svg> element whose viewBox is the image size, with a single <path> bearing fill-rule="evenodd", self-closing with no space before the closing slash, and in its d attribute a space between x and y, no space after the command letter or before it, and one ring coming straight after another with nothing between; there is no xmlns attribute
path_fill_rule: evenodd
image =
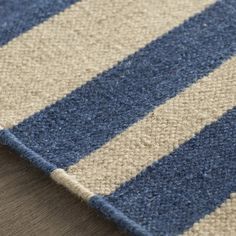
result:
<svg viewBox="0 0 236 236"><path fill-rule="evenodd" d="M235 236L236 235L236 193L231 194L221 207L195 223L184 236Z"/></svg>

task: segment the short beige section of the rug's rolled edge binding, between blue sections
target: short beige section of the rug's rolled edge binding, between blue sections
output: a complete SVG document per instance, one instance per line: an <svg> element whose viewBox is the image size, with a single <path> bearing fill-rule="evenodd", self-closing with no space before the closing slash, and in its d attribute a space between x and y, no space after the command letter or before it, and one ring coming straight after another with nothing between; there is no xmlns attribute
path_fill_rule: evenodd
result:
<svg viewBox="0 0 236 236"><path fill-rule="evenodd" d="M52 171L50 176L58 184L65 186L72 193L85 201L88 201L92 196L94 196L93 193L78 183L78 181L74 179L73 176L69 176L63 169L56 169Z"/></svg>

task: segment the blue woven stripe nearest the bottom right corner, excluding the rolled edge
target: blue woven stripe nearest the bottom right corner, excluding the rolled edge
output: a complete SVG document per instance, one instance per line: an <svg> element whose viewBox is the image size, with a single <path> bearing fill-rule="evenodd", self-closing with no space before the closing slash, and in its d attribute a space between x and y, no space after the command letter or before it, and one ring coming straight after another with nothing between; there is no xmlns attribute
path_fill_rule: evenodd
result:
<svg viewBox="0 0 236 236"><path fill-rule="evenodd" d="M235 191L236 107L105 200L153 235L177 235Z"/></svg>

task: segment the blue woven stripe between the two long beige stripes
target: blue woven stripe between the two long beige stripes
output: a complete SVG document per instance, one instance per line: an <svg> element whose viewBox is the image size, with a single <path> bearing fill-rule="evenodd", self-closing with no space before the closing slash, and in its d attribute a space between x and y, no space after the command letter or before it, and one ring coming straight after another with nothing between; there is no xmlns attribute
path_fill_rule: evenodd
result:
<svg viewBox="0 0 236 236"><path fill-rule="evenodd" d="M236 1L217 2L11 131L66 168L235 54L235 32Z"/></svg>

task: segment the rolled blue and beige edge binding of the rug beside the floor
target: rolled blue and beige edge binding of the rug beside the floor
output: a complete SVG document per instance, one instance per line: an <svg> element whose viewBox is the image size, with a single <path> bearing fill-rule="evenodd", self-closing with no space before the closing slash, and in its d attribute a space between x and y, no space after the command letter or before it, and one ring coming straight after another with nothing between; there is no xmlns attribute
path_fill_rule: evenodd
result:
<svg viewBox="0 0 236 236"><path fill-rule="evenodd" d="M57 168L56 165L46 161L32 149L28 148L8 129L0 126L0 144L9 147L17 152L23 159L40 169L44 174L65 189L84 200L90 207L101 212L106 219L111 220L124 232L137 236L151 236L144 227L131 220L123 212L113 207L103 196L90 192L72 176L68 175L64 169Z"/></svg>

